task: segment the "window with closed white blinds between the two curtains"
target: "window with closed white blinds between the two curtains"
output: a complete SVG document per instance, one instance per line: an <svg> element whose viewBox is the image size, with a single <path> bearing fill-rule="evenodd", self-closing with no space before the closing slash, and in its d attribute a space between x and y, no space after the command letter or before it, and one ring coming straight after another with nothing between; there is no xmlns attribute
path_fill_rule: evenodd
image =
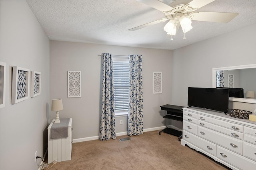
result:
<svg viewBox="0 0 256 170"><path fill-rule="evenodd" d="M129 109L129 57L113 57L115 113Z"/></svg>

